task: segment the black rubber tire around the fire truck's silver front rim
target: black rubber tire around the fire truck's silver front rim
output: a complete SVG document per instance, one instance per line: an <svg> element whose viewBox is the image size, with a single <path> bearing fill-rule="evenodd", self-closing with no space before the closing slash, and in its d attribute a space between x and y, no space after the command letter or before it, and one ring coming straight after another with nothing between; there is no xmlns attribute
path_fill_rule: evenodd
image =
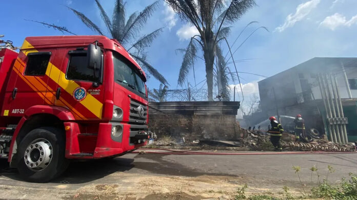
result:
<svg viewBox="0 0 357 200"><path fill-rule="evenodd" d="M37 139L44 139L51 145L50 162L44 169L30 169L25 164L25 151ZM20 176L29 182L45 183L58 177L68 167L69 161L65 158L65 132L59 128L41 127L31 130L19 143L17 150L17 170Z"/></svg>

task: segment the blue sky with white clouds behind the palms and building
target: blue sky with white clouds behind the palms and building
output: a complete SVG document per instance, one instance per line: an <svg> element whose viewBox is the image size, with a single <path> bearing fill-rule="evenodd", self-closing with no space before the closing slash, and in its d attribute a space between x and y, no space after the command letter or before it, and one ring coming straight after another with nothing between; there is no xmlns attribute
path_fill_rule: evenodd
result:
<svg viewBox="0 0 357 200"><path fill-rule="evenodd" d="M114 0L100 1L111 16ZM127 15L141 11L152 0L128 0ZM357 46L357 1L355 0L256 0L257 6L249 10L232 28L229 42L243 30L250 21L259 24L250 26L237 41L242 42L255 28L265 26L255 32L250 39L235 53L234 59L252 59L237 64L238 71L271 76L313 57L355 57ZM91 31L65 6L74 8L88 16L103 30L105 25L100 13L91 0L2 0L2 26L0 34L5 39L21 46L26 36L62 35L61 32L24 19L44 21L67 27L76 34L96 34ZM6 8L6 9L4 9ZM170 88L177 87L177 75L182 62L182 55L175 49L185 48L194 29L186 25L163 1L160 8L150 18L141 35L164 27L165 30L148 49L150 63L161 72ZM233 46L233 49L237 47ZM227 48L222 46L225 50ZM235 48L234 48L235 47ZM234 69L234 66L230 66ZM196 82L205 79L205 67L202 61L196 66ZM241 74L243 92L246 99L257 94L256 81L262 77ZM189 81L194 85L192 72ZM149 88L158 88L153 78L148 81ZM233 85L233 83L231 83ZM201 87L202 84L199 85Z"/></svg>

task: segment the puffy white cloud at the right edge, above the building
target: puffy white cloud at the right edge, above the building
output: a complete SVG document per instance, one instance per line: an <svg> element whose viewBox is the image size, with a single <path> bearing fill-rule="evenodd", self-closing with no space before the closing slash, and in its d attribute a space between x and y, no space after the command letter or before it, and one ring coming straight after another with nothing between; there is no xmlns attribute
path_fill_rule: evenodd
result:
<svg viewBox="0 0 357 200"><path fill-rule="evenodd" d="M353 24L357 24L357 15L351 17L350 20L346 20L346 17L340 13L335 13L331 16L327 16L320 26L324 26L326 28L331 29L332 31L335 30L337 27L346 26L350 27Z"/></svg>

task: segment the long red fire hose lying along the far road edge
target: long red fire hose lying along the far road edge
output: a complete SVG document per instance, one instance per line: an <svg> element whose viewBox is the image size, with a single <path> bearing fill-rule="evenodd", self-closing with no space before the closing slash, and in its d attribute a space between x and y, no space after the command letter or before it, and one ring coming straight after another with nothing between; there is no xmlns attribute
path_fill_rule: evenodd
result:
<svg viewBox="0 0 357 200"><path fill-rule="evenodd" d="M341 151L289 151L289 152L254 152L254 153L224 153L224 152L197 152L197 151L185 151L185 150L173 150L173 149L161 149L161 148L140 148L131 153L143 153L142 150L159 150L159 151L144 151L144 153L156 153L156 154L174 154L174 155L276 155L276 154L341 154L341 153L357 153L356 151L341 152ZM140 151L138 151L140 150ZM169 152L162 152L169 151Z"/></svg>

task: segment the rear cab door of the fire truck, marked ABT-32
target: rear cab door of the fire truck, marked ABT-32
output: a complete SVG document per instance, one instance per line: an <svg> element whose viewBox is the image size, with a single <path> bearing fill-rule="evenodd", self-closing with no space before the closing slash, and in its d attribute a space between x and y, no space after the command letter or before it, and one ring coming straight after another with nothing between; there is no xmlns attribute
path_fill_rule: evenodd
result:
<svg viewBox="0 0 357 200"><path fill-rule="evenodd" d="M51 96L47 96L46 75L51 71L55 50L22 51L14 62L13 72L17 74L14 83L9 80L4 103L8 116L23 116L25 110L34 105L50 105ZM13 77L13 76L11 76ZM10 78L11 78L10 77Z"/></svg>

